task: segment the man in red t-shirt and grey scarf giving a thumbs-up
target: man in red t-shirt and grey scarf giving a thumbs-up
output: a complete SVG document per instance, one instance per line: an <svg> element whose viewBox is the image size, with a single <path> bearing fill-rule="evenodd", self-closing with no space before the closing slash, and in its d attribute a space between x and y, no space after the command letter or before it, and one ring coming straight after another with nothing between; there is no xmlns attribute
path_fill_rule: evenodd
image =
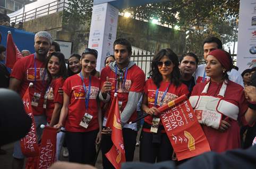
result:
<svg viewBox="0 0 256 169"><path fill-rule="evenodd" d="M133 161L137 126L136 123L129 124L129 122L136 119L136 106L142 95L145 81L144 72L134 62L130 61L131 55L132 47L129 41L126 39L117 39L114 42L115 62L110 63L108 67L101 71L101 91L99 94L101 100L108 102L108 108L103 120L104 127L108 114L113 113L108 111L114 98L114 93L117 92L126 161ZM104 168L114 168L105 156L105 153L113 145L110 133L110 129L103 129L101 151L103 154Z"/></svg>

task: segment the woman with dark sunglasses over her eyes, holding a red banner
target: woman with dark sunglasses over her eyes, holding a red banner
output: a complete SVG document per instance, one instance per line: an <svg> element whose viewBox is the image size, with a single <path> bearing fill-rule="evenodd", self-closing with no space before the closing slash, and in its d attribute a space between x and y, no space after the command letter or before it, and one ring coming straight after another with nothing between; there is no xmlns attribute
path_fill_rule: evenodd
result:
<svg viewBox="0 0 256 169"><path fill-rule="evenodd" d="M188 95L181 83L178 57L170 49L160 50L152 60L150 76L144 87L142 110L144 119L140 140L140 161L155 163L172 159L173 147L161 124L158 107L182 95Z"/></svg>

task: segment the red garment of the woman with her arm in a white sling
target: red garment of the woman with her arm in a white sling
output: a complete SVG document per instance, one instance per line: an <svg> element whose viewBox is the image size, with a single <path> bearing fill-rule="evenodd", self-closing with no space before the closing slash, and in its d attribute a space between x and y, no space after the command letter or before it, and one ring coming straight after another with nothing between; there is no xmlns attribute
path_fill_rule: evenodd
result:
<svg viewBox="0 0 256 169"><path fill-rule="evenodd" d="M195 85L191 96L201 96L206 84L207 82L202 82ZM221 86L222 83L217 84L210 81L207 94L203 95L217 97ZM239 108L238 121L229 118L227 122L231 127L229 127L225 132L219 132L212 127L202 125L203 132L208 139L211 151L215 152L224 152L228 149L240 148L240 126L238 123L247 125L244 114L248 109L248 101L245 99L243 87L229 80L223 100L231 102ZM225 117L223 117L223 119L224 118Z"/></svg>

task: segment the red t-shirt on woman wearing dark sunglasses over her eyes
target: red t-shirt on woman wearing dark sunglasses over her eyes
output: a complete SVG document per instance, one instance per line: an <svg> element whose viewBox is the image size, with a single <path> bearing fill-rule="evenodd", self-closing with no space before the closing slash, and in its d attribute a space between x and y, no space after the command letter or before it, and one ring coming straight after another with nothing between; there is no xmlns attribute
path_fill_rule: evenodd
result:
<svg viewBox="0 0 256 169"><path fill-rule="evenodd" d="M158 96L157 96L157 105L155 106L155 97L156 97L156 90L157 90L157 86L155 85L155 83L153 82L152 79L148 79L146 81L146 85L144 87L144 95L146 95L148 97L148 107L151 108L153 106L155 107L160 107L160 101L161 98L164 95L165 90L167 89L167 87L169 86L169 82L160 82L160 87L158 90ZM176 87L173 83L170 84L166 95L164 97L163 103L162 105L167 104L169 101L172 101L182 95L189 95L189 90L187 89L187 86L184 85L183 83L181 83L180 86ZM147 116L144 118L145 122L148 123L149 125L152 124L152 116ZM160 125L162 125L161 123L161 119L160 119ZM150 132L150 129L148 128L143 128L144 132ZM165 133L165 130L162 130L162 133Z"/></svg>

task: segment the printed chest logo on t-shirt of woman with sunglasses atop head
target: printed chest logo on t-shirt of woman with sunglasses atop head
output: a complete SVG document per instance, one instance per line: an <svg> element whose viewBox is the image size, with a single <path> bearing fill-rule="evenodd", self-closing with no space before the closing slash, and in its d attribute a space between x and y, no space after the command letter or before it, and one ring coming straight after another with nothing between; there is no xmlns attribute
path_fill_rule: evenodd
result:
<svg viewBox="0 0 256 169"><path fill-rule="evenodd" d="M88 91L88 89L89 89L88 86L86 86L87 91ZM74 86L74 87L72 87L72 90L73 90L75 99L85 99L86 98L83 86ZM99 93L99 88L91 86L89 99L96 99L98 96L98 93Z"/></svg>

